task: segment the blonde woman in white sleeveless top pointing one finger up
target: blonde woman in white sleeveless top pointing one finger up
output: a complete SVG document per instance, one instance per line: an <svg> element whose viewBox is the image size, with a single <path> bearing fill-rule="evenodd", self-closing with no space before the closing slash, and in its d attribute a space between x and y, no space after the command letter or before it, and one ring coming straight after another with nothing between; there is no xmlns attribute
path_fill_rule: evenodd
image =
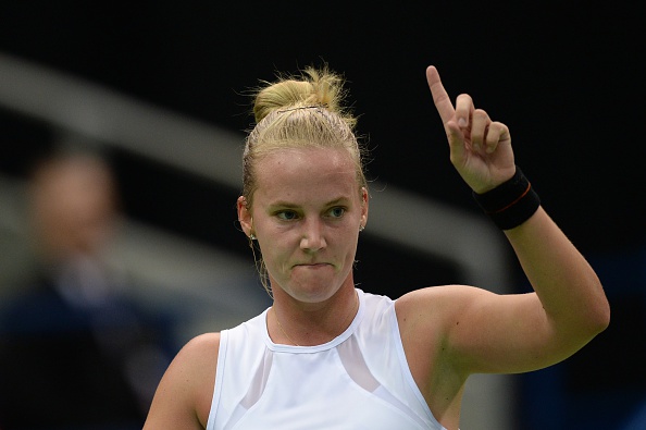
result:
<svg viewBox="0 0 646 430"><path fill-rule="evenodd" d="M343 79L326 67L281 77L256 95L237 200L273 305L189 341L146 430L456 430L470 374L551 366L606 329L604 288L515 165L508 127L467 94L454 105L434 66L426 78L450 161L534 291L442 285L390 299L358 288L369 192ZM537 127L549 138L549 124Z"/></svg>

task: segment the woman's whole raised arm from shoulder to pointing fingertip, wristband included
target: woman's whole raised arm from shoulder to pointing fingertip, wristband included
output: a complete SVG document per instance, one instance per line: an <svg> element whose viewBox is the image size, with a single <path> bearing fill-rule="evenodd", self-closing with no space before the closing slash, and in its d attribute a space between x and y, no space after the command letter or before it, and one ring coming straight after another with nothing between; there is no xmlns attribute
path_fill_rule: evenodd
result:
<svg viewBox="0 0 646 430"><path fill-rule="evenodd" d="M415 345L409 351L450 361L461 376L521 372L558 363L608 325L610 310L601 284L539 207L529 183L519 180L508 127L475 109L469 95L458 96L454 107L434 66L426 70L426 77L447 134L450 160L481 204L494 200L499 206L493 218L505 231L534 293L497 295L458 285L414 292L398 304L405 342L412 322L418 328L439 328L439 339L430 340L426 347L409 343ZM434 356L437 344L444 353Z"/></svg>

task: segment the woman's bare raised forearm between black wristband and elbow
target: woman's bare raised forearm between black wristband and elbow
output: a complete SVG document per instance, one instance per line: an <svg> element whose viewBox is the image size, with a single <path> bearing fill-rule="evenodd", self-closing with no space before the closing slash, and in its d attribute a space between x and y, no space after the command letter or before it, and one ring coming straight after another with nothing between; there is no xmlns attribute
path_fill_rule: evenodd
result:
<svg viewBox="0 0 646 430"><path fill-rule="evenodd" d="M599 279L542 207L505 234L554 329L586 341L608 325L610 308Z"/></svg>

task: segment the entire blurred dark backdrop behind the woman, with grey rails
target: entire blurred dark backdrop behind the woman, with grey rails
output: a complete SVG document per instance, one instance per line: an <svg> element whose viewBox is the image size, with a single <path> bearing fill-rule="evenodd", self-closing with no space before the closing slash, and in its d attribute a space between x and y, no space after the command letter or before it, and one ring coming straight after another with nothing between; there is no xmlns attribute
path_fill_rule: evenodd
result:
<svg viewBox="0 0 646 430"><path fill-rule="evenodd" d="M527 291L501 233L450 165L424 76L434 64L451 97L469 93L509 125L518 164L597 269L612 306L610 328L564 363L473 378L462 428L646 429L643 17L621 1L3 2L0 311L29 321L29 342L44 328L51 340L61 311L76 316L70 327L90 333L97 356L112 357L105 366L121 369L124 390L138 396L139 410L124 411L121 428L140 427L159 374L186 341L270 306L235 212L252 125L249 89L323 62L347 78L371 149L359 286L392 297L456 282ZM62 169L66 180L44 197L40 185L58 184L51 163L62 159L86 175ZM103 169L103 179L87 175ZM95 180L103 185L92 188ZM107 200L65 200L103 189ZM80 232L64 230L75 226ZM70 286L70 273L100 278L102 290ZM55 306L41 295L36 305L25 299L46 284L59 285L58 298L48 296ZM104 311L112 297L127 306ZM109 317L98 323L98 315ZM20 348L3 340L0 347L42 357L51 345L16 336L25 331L21 318L7 318L2 329L4 340L20 337ZM124 332L154 334L135 347L134 336L114 341ZM42 366L2 355L13 366ZM88 374L97 373L92 366ZM26 384L4 378L0 386ZM32 382L25 402L38 391ZM0 418L15 397L0 394Z"/></svg>

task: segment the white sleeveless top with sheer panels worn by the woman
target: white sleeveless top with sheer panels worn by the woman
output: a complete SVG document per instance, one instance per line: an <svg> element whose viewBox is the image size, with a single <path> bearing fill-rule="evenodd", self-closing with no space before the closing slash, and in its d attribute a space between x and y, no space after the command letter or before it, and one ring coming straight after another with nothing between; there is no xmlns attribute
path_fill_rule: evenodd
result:
<svg viewBox="0 0 646 430"><path fill-rule="evenodd" d="M357 293L352 323L323 345L273 343L269 309L222 331L207 430L446 430L408 368L395 302Z"/></svg>

